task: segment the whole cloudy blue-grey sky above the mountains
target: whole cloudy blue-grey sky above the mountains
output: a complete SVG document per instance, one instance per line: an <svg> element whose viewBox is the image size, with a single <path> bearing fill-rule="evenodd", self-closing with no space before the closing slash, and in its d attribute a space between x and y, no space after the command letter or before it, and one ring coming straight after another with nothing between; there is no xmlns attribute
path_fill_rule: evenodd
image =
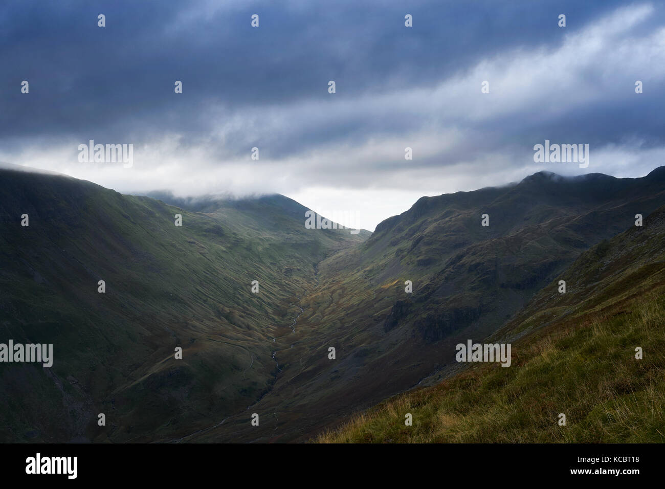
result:
<svg viewBox="0 0 665 489"><path fill-rule="evenodd" d="M421 196L665 164L660 2L3 0L0 46L0 161L128 194L277 192L374 230ZM90 140L132 165L80 161ZM536 162L545 140L589 166Z"/></svg>

